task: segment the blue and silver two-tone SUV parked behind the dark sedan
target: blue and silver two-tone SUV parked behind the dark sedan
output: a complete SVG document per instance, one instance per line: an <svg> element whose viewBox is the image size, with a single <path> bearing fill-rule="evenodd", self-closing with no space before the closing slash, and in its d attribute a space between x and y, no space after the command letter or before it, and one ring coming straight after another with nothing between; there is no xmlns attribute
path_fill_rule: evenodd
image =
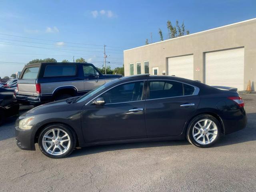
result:
<svg viewBox="0 0 256 192"><path fill-rule="evenodd" d="M81 96L122 75L103 75L89 63L28 64L18 79L19 102L38 104Z"/></svg>

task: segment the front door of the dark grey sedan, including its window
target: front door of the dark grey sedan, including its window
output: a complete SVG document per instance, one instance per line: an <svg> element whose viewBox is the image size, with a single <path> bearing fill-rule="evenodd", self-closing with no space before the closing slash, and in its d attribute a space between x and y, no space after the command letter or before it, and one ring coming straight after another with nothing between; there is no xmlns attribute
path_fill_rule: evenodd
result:
<svg viewBox="0 0 256 192"><path fill-rule="evenodd" d="M120 84L99 95L105 104L93 101L82 111L86 142L145 138L144 81Z"/></svg>

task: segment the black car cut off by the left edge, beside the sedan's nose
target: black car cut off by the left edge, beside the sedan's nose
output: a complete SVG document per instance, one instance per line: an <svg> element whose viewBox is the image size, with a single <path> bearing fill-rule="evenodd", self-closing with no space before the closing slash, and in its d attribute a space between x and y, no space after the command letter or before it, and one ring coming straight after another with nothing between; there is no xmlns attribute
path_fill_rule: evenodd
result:
<svg viewBox="0 0 256 192"><path fill-rule="evenodd" d="M6 89L0 85L0 125L6 117L19 113L20 105L15 98L14 89Z"/></svg>

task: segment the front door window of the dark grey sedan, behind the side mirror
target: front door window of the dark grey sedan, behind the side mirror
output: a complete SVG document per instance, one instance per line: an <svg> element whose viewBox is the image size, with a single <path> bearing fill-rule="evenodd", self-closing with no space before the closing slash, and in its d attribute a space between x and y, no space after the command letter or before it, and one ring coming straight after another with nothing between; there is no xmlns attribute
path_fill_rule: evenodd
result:
<svg viewBox="0 0 256 192"><path fill-rule="evenodd" d="M106 104L138 101L142 99L143 85L144 81L118 85L100 97L104 98Z"/></svg>

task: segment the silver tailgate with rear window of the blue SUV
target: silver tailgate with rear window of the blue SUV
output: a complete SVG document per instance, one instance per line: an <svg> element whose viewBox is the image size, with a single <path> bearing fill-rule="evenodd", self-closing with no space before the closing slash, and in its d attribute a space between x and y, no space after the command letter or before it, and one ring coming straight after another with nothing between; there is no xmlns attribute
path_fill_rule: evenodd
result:
<svg viewBox="0 0 256 192"><path fill-rule="evenodd" d="M18 79L18 94L38 96L36 93L36 79L40 70L40 64L25 66Z"/></svg>

